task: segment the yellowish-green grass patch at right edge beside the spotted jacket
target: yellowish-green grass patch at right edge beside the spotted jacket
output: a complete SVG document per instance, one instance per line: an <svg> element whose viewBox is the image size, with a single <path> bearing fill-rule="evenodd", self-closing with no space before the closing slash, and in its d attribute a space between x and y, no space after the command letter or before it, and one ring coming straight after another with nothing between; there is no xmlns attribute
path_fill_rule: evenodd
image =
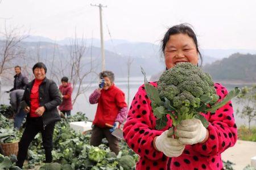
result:
<svg viewBox="0 0 256 170"><path fill-rule="evenodd" d="M251 126L250 129L245 125L240 126L238 128L238 139L256 142L256 126Z"/></svg>

